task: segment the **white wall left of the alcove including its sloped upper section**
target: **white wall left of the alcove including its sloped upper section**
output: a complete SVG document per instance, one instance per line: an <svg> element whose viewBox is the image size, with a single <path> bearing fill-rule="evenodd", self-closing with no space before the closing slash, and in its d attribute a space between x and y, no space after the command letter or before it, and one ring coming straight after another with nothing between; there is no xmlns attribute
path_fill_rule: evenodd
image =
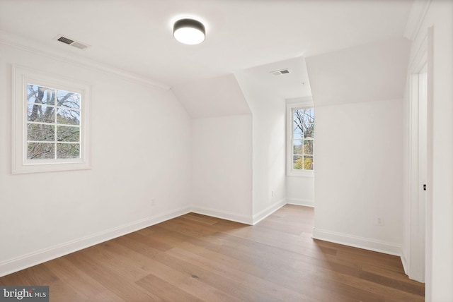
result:
<svg viewBox="0 0 453 302"><path fill-rule="evenodd" d="M193 212L252 223L252 116L233 74L172 87L192 118Z"/></svg>

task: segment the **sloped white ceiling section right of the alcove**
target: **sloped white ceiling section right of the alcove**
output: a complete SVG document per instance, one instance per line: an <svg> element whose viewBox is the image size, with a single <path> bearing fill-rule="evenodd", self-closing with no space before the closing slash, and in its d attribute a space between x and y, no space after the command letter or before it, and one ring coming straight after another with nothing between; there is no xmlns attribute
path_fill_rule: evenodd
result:
<svg viewBox="0 0 453 302"><path fill-rule="evenodd" d="M315 106L403 98L410 47L396 38L307 57Z"/></svg>

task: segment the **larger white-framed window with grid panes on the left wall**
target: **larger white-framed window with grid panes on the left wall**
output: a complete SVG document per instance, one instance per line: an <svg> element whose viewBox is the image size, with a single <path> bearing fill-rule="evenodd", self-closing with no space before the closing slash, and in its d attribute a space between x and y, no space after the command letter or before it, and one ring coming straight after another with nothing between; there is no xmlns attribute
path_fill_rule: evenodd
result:
<svg viewBox="0 0 453 302"><path fill-rule="evenodd" d="M14 68L13 173L88 169L90 87Z"/></svg>

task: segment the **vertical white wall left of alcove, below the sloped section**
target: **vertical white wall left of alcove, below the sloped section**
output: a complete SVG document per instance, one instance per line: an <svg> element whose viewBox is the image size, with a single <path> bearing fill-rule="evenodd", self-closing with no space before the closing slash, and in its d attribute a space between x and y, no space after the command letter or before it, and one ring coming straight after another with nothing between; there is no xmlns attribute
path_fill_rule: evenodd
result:
<svg viewBox="0 0 453 302"><path fill-rule="evenodd" d="M251 224L251 114L193 119L191 153L193 210Z"/></svg>

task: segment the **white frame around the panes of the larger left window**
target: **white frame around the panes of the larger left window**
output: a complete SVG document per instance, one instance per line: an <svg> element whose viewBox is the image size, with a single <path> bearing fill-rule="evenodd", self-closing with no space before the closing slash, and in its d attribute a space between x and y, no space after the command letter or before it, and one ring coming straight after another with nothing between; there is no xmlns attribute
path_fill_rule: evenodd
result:
<svg viewBox="0 0 453 302"><path fill-rule="evenodd" d="M90 104L91 86L60 75L22 66L13 66L12 95L12 164L13 174L91 169ZM27 158L27 84L76 92L81 95L80 157L71 159Z"/></svg>

